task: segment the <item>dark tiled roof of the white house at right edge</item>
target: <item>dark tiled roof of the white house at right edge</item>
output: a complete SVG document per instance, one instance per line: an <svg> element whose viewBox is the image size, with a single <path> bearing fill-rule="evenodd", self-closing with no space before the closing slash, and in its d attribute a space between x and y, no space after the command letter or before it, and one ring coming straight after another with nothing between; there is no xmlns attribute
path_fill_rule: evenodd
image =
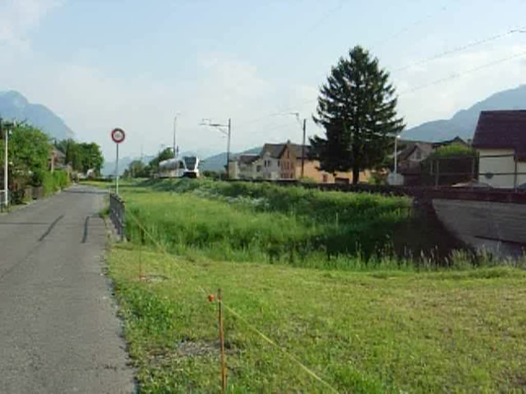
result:
<svg viewBox="0 0 526 394"><path fill-rule="evenodd" d="M518 157L526 157L526 110L480 112L473 147L514 149Z"/></svg>

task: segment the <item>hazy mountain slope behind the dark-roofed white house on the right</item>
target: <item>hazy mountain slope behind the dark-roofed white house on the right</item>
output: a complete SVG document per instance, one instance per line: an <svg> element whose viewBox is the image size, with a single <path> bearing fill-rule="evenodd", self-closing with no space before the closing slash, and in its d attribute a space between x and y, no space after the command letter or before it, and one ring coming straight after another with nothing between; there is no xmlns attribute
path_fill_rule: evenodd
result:
<svg viewBox="0 0 526 394"><path fill-rule="evenodd" d="M455 113L449 120L435 120L422 123L403 132L404 139L421 141L441 141L459 136L472 139L480 111L496 109L526 109L526 85L503 90L477 102L468 109Z"/></svg>

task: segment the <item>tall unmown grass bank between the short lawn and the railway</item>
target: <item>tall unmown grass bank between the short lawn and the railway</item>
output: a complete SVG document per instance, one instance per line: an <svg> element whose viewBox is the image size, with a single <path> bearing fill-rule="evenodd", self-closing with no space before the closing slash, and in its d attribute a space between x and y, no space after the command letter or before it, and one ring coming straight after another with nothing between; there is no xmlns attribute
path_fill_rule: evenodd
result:
<svg viewBox="0 0 526 394"><path fill-rule="evenodd" d="M125 199L156 240L182 255L355 270L492 264L488 256L441 251L407 198L176 180L143 182ZM140 241L130 218L127 235Z"/></svg>

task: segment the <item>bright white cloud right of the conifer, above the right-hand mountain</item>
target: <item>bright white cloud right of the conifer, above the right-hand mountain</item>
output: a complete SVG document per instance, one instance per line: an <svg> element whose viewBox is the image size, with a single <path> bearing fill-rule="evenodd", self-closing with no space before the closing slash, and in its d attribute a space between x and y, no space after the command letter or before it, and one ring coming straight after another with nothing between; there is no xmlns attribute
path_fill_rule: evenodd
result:
<svg viewBox="0 0 526 394"><path fill-rule="evenodd" d="M492 64L507 58L510 59ZM478 67L481 68L475 70ZM393 80L400 94L399 110L408 125L414 126L448 119L459 109L468 108L494 92L517 87L525 72L526 45L501 45L395 72Z"/></svg>

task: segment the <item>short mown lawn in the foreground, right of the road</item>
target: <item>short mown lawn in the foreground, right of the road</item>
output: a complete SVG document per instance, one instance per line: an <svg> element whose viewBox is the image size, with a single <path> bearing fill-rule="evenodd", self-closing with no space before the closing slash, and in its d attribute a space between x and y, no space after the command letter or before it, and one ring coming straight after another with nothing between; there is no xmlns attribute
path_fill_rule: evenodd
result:
<svg viewBox="0 0 526 394"><path fill-rule="evenodd" d="M141 392L219 392L217 288L339 392L526 392L521 269L327 271L131 243L108 263ZM229 392L328 392L229 312L225 334Z"/></svg>

